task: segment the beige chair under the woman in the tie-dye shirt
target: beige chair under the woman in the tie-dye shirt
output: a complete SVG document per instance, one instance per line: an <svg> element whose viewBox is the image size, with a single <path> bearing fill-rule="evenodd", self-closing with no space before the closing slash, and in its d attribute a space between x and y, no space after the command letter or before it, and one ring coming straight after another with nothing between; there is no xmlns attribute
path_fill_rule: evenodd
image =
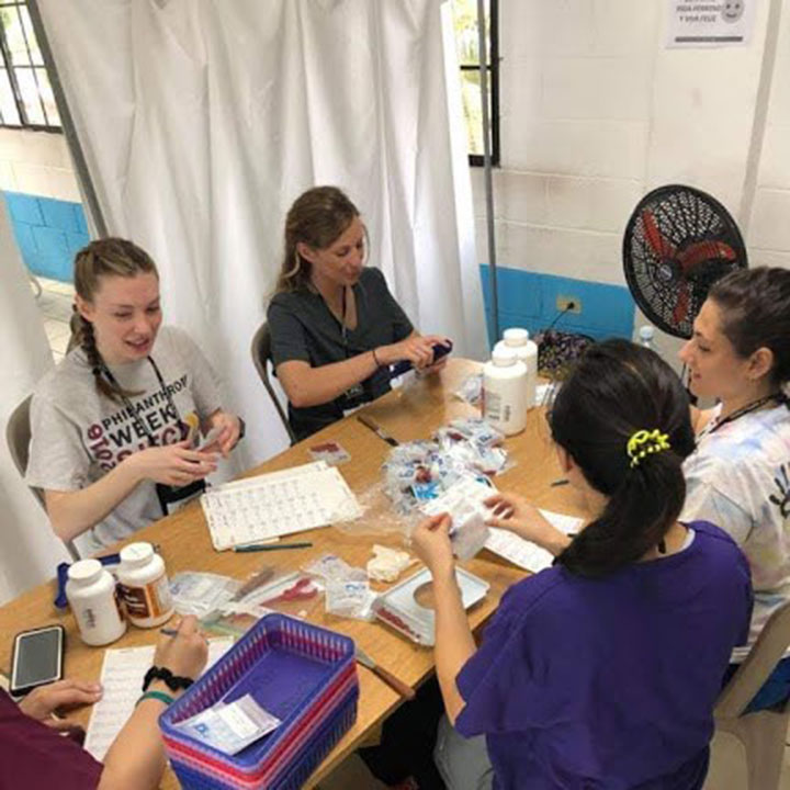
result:
<svg viewBox="0 0 790 790"><path fill-rule="evenodd" d="M734 735L746 751L748 790L779 790L790 702L782 711L744 713L790 645L790 601L768 619L746 661L732 676L716 701L718 731ZM715 749L711 754L715 759Z"/></svg>

